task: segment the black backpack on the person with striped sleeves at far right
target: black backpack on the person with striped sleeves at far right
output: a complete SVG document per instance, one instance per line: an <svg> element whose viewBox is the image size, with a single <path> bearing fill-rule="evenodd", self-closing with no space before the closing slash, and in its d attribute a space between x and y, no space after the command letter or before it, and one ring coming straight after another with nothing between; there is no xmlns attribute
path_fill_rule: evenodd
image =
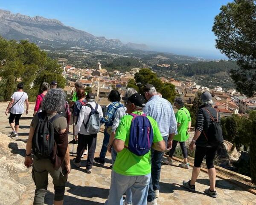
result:
<svg viewBox="0 0 256 205"><path fill-rule="evenodd" d="M220 145L224 141L224 139L222 137L221 124L218 122L218 111L216 111L217 119L215 119L214 117L212 117L212 114L209 112L209 110L207 108L205 109L210 114L211 123L209 124L207 134L203 131L204 136L208 142Z"/></svg>

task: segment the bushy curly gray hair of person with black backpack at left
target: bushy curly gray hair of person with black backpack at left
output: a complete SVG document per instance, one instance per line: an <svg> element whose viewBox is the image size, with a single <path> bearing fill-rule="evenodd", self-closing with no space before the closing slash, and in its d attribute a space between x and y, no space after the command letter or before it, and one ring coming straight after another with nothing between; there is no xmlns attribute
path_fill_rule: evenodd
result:
<svg viewBox="0 0 256 205"><path fill-rule="evenodd" d="M66 103L66 94L61 88L54 88L47 92L42 102L42 110L47 113L61 111Z"/></svg>

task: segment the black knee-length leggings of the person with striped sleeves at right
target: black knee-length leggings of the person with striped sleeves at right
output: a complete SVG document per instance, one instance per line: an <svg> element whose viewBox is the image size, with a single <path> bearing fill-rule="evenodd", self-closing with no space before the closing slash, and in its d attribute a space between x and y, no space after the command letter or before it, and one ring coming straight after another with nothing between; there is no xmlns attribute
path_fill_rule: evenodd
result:
<svg viewBox="0 0 256 205"><path fill-rule="evenodd" d="M218 146L215 147L195 147L195 162L194 167L201 167L204 156L207 165L207 169L214 168L213 160L217 152Z"/></svg>

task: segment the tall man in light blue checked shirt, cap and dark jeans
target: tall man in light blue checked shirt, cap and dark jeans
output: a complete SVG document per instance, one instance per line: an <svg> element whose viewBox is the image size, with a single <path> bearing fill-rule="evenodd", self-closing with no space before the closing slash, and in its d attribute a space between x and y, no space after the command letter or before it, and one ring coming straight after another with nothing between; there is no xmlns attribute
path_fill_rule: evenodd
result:
<svg viewBox="0 0 256 205"><path fill-rule="evenodd" d="M148 100L144 113L156 120L163 140L168 147L172 147L172 140L177 134L177 122L171 103L168 100L161 98L154 85L146 84L143 88L144 96ZM159 197L159 180L161 172L163 152L151 148L151 180L148 189L148 205L157 205L157 197Z"/></svg>

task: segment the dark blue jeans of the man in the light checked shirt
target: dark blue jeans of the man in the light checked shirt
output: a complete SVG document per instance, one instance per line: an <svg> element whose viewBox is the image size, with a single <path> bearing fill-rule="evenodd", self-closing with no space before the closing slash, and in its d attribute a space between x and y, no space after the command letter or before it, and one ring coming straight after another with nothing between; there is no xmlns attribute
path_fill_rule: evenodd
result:
<svg viewBox="0 0 256 205"><path fill-rule="evenodd" d="M167 144L168 136L163 137L163 140ZM161 163L163 158L163 152L156 151L151 148L151 179L148 188L148 202L153 201L156 197L154 195L154 190L159 190L159 180L161 173Z"/></svg>

